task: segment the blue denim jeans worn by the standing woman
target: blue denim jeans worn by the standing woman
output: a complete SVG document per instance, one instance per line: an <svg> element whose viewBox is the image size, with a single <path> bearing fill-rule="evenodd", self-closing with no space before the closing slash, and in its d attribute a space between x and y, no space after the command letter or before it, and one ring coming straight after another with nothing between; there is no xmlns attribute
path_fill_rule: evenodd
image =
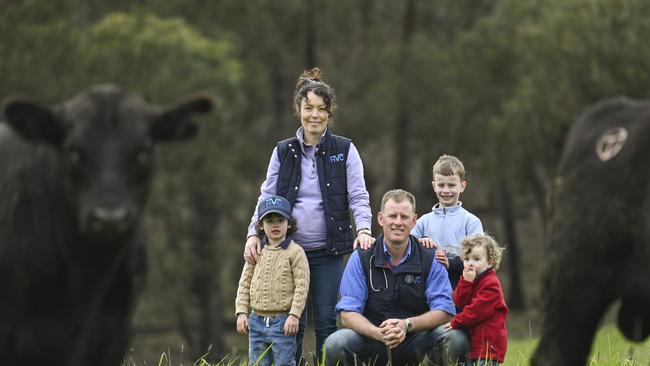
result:
<svg viewBox="0 0 650 366"><path fill-rule="evenodd" d="M339 285L345 265L343 256L314 255L307 252L309 261L309 297L305 311L300 317L300 326L296 341L296 364L302 358L302 340L307 326L307 309L312 309L314 317L314 332L316 333L316 355L322 357L325 339L336 332L336 303L338 302ZM310 362L311 363L311 362Z"/></svg>

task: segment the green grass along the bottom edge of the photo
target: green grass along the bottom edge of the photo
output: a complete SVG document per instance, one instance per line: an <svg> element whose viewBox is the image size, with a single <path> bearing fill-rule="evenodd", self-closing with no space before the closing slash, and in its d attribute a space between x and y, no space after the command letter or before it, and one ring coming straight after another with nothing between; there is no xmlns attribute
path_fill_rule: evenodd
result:
<svg viewBox="0 0 650 366"><path fill-rule="evenodd" d="M509 340L508 353L503 366L527 366L535 351L537 339ZM206 360L205 356L193 362L193 366L245 366L246 355L228 355L221 360ZM123 366L180 366L190 365L172 361L169 353L163 353L154 363L139 363L127 359ZM588 366L648 366L650 365L650 338L642 343L627 341L615 327L604 327L596 335ZM313 366L313 365L312 365Z"/></svg>

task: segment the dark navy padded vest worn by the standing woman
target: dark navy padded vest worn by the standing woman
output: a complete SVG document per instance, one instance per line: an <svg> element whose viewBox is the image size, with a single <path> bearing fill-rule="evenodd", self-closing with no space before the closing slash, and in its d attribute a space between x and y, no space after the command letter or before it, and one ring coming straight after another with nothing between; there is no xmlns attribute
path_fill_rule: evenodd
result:
<svg viewBox="0 0 650 366"><path fill-rule="evenodd" d="M300 141L292 137L278 142L280 171L276 194L293 206L300 189ZM318 181L327 220L327 254L342 255L352 251L354 232L348 207L346 162L350 139L333 135L329 129L316 151ZM300 225L300 223L298 223Z"/></svg>

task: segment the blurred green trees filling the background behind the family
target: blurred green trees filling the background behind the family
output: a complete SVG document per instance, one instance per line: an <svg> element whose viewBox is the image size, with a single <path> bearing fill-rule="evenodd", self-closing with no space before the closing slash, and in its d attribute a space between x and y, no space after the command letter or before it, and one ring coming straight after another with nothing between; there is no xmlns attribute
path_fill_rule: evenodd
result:
<svg viewBox="0 0 650 366"><path fill-rule="evenodd" d="M603 97L649 97L648 19L643 0L0 0L0 95L57 103L114 82L161 104L214 96L197 139L158 151L136 324L222 354L243 236L271 150L298 126L304 68L337 92L333 129L359 148L375 211L396 171L426 211L431 165L452 153L470 210L503 215L507 184L516 219L543 217L575 117Z"/></svg>

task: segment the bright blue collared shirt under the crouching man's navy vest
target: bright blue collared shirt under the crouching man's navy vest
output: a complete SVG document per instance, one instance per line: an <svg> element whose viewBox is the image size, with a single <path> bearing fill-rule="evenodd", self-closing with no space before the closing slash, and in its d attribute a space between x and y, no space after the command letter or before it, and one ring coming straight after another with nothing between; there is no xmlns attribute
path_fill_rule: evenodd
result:
<svg viewBox="0 0 650 366"><path fill-rule="evenodd" d="M390 261L388 248L383 243L384 255ZM402 261L394 267L393 271L398 273L400 266L411 256L411 243L409 242L406 249L406 255ZM450 315L456 314L454 302L451 299L451 285L447 278L447 270L437 260L433 260L429 276L427 276L427 286L424 290L427 297L427 304L430 310L441 310ZM368 300L368 286L366 285L366 275L361 267L359 253L355 250L350 255L348 264L343 272L340 287L341 300L336 304L336 311L354 311L363 314Z"/></svg>

